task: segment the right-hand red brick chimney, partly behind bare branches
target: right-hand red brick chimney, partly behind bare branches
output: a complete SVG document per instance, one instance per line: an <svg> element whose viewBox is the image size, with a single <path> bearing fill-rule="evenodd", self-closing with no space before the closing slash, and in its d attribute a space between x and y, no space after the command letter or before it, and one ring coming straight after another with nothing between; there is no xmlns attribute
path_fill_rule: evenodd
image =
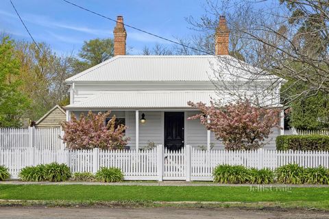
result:
<svg viewBox="0 0 329 219"><path fill-rule="evenodd" d="M230 30L226 25L225 16L219 17L219 24L215 33L215 54L228 55L228 43L230 38Z"/></svg>

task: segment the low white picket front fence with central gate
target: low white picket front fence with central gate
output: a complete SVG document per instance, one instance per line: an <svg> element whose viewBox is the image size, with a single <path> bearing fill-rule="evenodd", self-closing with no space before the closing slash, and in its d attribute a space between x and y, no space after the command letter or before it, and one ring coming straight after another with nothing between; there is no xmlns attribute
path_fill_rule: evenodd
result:
<svg viewBox="0 0 329 219"><path fill-rule="evenodd" d="M328 151L202 151L187 145L180 151L168 151L162 145L149 151L99 149L83 151L37 148L0 149L0 165L17 178L25 166L65 163L72 172L97 172L101 167L117 167L126 180L211 181L219 164L243 165L274 170L285 164L329 168Z"/></svg>

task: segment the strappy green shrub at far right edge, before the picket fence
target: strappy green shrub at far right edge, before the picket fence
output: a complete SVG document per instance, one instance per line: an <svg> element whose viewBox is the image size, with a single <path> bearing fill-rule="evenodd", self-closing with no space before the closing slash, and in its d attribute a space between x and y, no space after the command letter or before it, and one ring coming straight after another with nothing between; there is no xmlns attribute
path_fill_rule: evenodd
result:
<svg viewBox="0 0 329 219"><path fill-rule="evenodd" d="M317 168L306 168L305 183L329 184L329 170L322 166Z"/></svg>

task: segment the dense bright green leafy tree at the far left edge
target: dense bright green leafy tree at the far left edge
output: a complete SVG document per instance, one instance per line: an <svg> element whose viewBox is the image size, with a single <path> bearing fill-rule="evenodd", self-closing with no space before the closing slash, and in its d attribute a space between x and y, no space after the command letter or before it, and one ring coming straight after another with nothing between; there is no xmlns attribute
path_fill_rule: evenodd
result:
<svg viewBox="0 0 329 219"><path fill-rule="evenodd" d="M15 57L14 44L8 36L0 44L0 127L19 127L29 99L21 91L17 79L20 62Z"/></svg>

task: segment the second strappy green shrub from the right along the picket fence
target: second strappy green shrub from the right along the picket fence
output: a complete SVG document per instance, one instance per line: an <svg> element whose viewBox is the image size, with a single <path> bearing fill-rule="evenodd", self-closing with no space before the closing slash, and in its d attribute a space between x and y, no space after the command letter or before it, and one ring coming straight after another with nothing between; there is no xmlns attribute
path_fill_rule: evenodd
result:
<svg viewBox="0 0 329 219"><path fill-rule="evenodd" d="M300 184L304 183L305 169L298 164L287 164L276 168L278 183Z"/></svg>

